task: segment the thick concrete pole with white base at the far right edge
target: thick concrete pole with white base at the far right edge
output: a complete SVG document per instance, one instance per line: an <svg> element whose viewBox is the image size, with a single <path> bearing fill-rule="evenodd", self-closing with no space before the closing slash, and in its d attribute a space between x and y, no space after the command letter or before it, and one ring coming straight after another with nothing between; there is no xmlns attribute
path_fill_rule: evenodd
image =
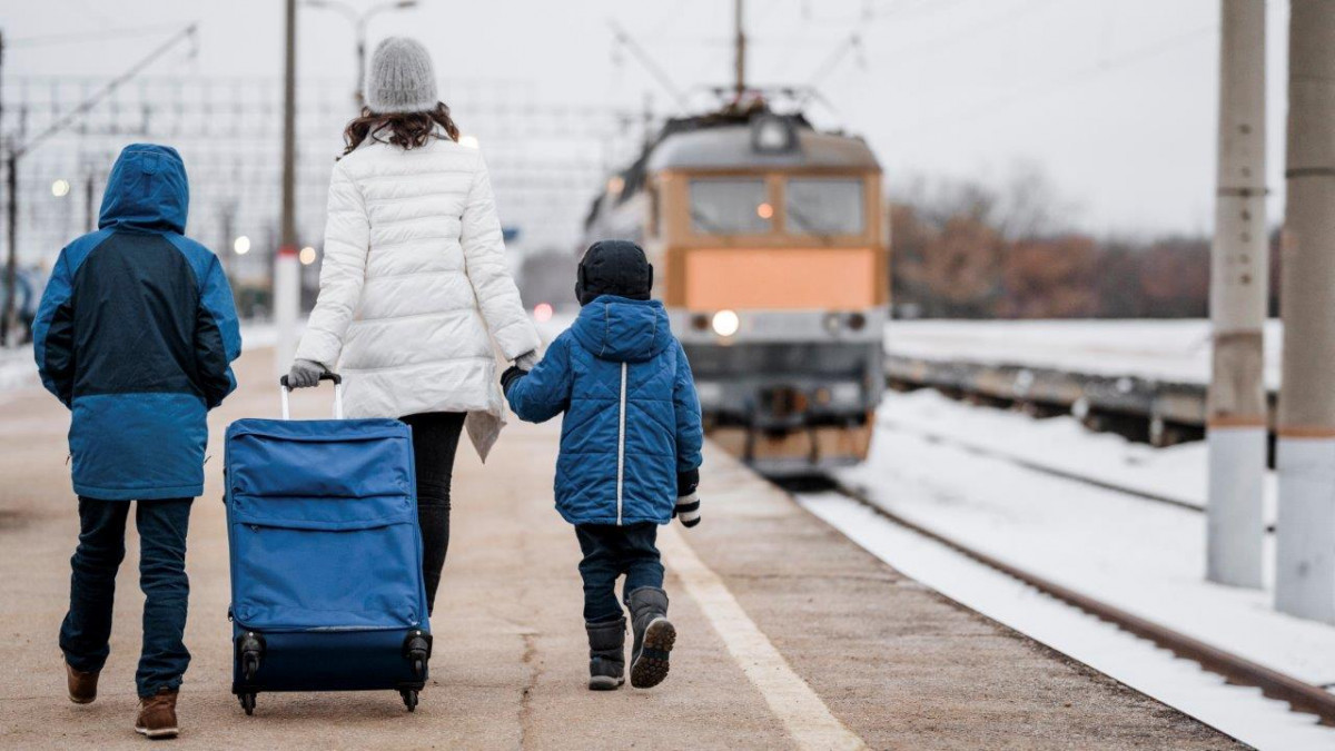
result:
<svg viewBox="0 0 1335 751"><path fill-rule="evenodd" d="M1275 608L1335 623L1335 3L1292 0Z"/></svg>

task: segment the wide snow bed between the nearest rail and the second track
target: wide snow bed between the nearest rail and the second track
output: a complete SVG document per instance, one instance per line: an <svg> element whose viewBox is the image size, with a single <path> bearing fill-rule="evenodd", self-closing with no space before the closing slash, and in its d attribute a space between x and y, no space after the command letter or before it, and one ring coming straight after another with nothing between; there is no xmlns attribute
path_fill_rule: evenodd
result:
<svg viewBox="0 0 1335 751"><path fill-rule="evenodd" d="M894 420L912 413L916 401L930 402L888 394L880 414ZM941 424L951 420L943 416ZM1047 429L1041 421L989 422L979 418L972 429L992 445L1041 445L1035 436ZM1048 450L1052 457L1097 456L1104 449L1091 446L1107 444L1103 436L1068 433ZM1203 476L1204 454L1195 457ZM1176 473L1192 464L1181 461ZM1335 627L1275 612L1270 589L1206 583L1200 512L1053 477L890 426L876 432L866 464L840 472L840 478L886 509L1019 568L1308 683L1335 683ZM1267 583L1272 576L1267 571Z"/></svg>

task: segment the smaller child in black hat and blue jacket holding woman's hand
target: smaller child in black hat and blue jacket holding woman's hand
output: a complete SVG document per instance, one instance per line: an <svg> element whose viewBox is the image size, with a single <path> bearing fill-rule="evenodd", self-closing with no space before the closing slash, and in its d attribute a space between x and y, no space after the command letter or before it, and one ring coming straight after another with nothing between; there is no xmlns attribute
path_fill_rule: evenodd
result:
<svg viewBox="0 0 1335 751"><path fill-rule="evenodd" d="M506 370L502 386L521 420L565 413L557 458L557 510L575 525L583 560L589 688L625 683L626 617L634 643L630 684L668 676L677 632L655 537L680 517L700 522L700 401L668 313L649 299L653 267L635 243L594 243L579 263L583 310L531 371Z"/></svg>

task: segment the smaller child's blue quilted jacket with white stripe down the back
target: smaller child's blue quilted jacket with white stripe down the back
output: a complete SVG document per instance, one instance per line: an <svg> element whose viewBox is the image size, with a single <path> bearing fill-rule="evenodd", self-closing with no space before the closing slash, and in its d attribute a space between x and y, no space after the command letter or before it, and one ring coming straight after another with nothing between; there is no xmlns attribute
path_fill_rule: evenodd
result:
<svg viewBox="0 0 1335 751"><path fill-rule="evenodd" d="M521 420L565 412L557 510L570 524L672 521L704 441L690 363L658 301L602 295L506 397Z"/></svg>

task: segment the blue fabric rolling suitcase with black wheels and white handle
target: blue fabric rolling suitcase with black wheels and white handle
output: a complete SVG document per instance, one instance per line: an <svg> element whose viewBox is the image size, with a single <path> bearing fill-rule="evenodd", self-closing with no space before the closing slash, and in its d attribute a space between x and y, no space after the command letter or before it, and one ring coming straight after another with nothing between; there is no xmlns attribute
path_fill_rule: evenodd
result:
<svg viewBox="0 0 1335 751"><path fill-rule="evenodd" d="M238 420L227 428L235 664L246 714L262 691L395 690L427 678L411 429L398 420Z"/></svg>

